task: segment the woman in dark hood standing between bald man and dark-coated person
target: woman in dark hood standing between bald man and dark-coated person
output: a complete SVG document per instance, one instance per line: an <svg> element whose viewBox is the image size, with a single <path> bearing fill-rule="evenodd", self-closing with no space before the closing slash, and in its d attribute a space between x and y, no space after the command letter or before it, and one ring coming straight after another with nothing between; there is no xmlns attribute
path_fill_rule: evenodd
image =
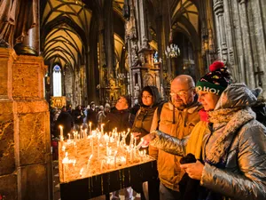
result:
<svg viewBox="0 0 266 200"><path fill-rule="evenodd" d="M162 107L163 101L160 97L158 88L155 86L145 86L138 96L138 102L140 108L137 111L134 124L132 126L131 132L137 138L137 143L140 137L144 137L151 130L153 122L153 114L158 107ZM145 148L148 152L148 148ZM146 199L159 199L159 180L145 182L142 188L133 187L138 193L145 195ZM150 193L148 193L150 191ZM143 194L144 192L144 194ZM150 195L150 196L149 196ZM144 197L142 197L144 198Z"/></svg>

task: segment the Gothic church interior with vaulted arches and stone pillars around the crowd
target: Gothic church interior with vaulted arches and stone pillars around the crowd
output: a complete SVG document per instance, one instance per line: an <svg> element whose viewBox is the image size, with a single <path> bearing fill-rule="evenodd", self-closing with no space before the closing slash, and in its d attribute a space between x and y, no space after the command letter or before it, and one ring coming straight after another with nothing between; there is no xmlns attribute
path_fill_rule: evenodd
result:
<svg viewBox="0 0 266 200"><path fill-rule="evenodd" d="M54 198L53 108L137 103L222 60L266 97L264 0L2 0L0 196ZM1 199L1 198L0 198Z"/></svg>

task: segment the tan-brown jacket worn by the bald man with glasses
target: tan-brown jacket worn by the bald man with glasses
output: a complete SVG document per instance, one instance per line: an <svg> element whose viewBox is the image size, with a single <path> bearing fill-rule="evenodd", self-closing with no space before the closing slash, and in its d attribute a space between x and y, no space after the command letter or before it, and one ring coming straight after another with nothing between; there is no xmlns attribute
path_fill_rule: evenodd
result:
<svg viewBox="0 0 266 200"><path fill-rule="evenodd" d="M175 108L175 120L173 120L173 104L167 102L160 112L159 130L172 135L180 140L188 136L195 124L200 121L199 111L202 108L197 100L189 108L178 110ZM158 127L158 116L155 111L151 132ZM179 191L178 182L184 175L181 171L179 160L181 156L174 156L158 148L150 147L150 156L157 158L158 172L161 183L172 190Z"/></svg>

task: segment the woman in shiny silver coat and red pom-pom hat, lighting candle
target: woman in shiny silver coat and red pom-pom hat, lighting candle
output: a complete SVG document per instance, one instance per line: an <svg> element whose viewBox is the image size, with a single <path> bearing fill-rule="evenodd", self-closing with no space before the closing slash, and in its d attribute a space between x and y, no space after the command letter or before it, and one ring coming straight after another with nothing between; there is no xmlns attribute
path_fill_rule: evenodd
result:
<svg viewBox="0 0 266 200"><path fill-rule="evenodd" d="M200 141L200 158L181 168L206 190L200 199L266 199L266 128L252 107L257 99L246 84L231 84L222 62L196 85L199 101L207 111L207 129ZM175 155L188 153L189 144L199 146L191 135L187 145L160 131L145 136L151 145Z"/></svg>

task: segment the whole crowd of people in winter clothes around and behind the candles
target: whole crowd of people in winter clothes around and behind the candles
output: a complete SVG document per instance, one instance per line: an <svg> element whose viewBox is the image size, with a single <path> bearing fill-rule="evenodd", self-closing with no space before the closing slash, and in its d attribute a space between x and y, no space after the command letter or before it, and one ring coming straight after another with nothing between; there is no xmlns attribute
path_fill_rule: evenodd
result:
<svg viewBox="0 0 266 200"><path fill-rule="evenodd" d="M114 108L63 108L55 127L65 123L64 137L89 122L106 132L131 129L157 160L158 179L133 187L142 199L266 199L266 115L261 89L234 83L223 62L215 61L195 84L192 76L172 81L168 101L155 86L138 93L139 109L121 96ZM57 135L55 133L55 135ZM125 188L125 199L133 199ZM111 199L119 199L114 191Z"/></svg>

